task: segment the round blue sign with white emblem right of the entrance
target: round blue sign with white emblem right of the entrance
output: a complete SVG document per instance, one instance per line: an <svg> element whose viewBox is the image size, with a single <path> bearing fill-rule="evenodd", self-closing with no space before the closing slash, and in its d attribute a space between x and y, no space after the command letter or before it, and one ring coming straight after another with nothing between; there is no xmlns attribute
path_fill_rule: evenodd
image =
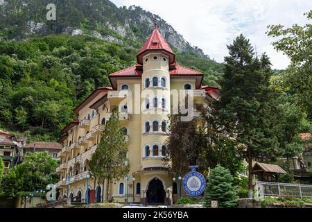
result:
<svg viewBox="0 0 312 222"><path fill-rule="evenodd" d="M205 191L206 179L201 173L191 171L183 179L183 188L190 196L200 196Z"/></svg>

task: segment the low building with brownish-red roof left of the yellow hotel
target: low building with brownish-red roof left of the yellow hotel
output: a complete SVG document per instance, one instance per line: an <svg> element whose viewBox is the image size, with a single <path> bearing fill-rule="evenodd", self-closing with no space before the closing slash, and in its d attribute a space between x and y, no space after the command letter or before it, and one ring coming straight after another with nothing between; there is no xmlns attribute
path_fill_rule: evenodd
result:
<svg viewBox="0 0 312 222"><path fill-rule="evenodd" d="M58 153L62 150L62 144L55 142L33 142L31 144L26 144L25 146L25 155L28 153L35 152L45 152L47 151L51 157L55 160L60 160Z"/></svg>

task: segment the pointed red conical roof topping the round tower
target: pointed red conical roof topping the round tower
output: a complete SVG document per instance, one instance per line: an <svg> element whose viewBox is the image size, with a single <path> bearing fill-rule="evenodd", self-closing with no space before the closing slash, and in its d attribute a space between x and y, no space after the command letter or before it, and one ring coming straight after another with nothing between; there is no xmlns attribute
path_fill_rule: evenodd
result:
<svg viewBox="0 0 312 222"><path fill-rule="evenodd" d="M159 33L157 28L154 28L152 35L148 37L148 40L144 43L142 49L137 54L137 61L139 64L143 64L142 55L146 53L146 51L159 51L163 50L168 53L169 56L169 64L175 62L175 53L173 53L171 47L168 45L162 34Z"/></svg>

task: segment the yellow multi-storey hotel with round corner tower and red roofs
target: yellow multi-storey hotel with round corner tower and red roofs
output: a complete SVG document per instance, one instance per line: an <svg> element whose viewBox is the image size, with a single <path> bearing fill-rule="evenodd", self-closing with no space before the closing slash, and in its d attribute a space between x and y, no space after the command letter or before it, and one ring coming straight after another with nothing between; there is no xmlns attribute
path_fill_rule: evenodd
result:
<svg viewBox="0 0 312 222"><path fill-rule="evenodd" d="M128 177L108 185L108 198L119 203L170 205L183 189L179 187L181 177L168 173L163 161L168 114L185 96L194 103L208 104L218 99L219 90L202 86L203 74L177 64L175 53L157 27L137 54L137 65L109 78L111 87L96 89L80 103L74 110L78 119L63 130L63 148L58 153L61 164L57 168L60 198L89 203L106 198L102 191L107 184L103 187L102 182L89 176L89 160L112 110L119 107L120 124L127 134L130 172Z"/></svg>

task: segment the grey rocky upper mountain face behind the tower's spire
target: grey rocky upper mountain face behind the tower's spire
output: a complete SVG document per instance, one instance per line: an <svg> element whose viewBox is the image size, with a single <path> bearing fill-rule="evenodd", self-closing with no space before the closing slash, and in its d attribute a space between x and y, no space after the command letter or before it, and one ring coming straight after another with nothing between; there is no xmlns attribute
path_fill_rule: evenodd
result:
<svg viewBox="0 0 312 222"><path fill-rule="evenodd" d="M56 6L56 21L46 19L49 3ZM155 19L173 49L209 58L164 19L137 6L118 8L108 0L0 0L0 37L4 39L67 33L138 45L150 35Z"/></svg>

